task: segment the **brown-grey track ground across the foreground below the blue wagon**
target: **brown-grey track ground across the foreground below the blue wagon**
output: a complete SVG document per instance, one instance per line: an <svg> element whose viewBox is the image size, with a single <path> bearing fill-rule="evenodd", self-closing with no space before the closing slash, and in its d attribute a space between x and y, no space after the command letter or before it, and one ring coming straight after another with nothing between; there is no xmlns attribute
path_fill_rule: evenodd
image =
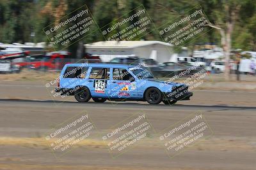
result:
<svg viewBox="0 0 256 170"><path fill-rule="evenodd" d="M14 139L44 138L45 132L78 113L88 113L99 136L134 114L145 113L155 133L117 158L107 146L79 146L56 159L47 146L1 143L2 169L255 169L256 107L146 103L77 103L0 99L0 136ZM158 134L191 114L202 113L212 135L175 157L168 157ZM22 141L21 140L21 141Z"/></svg>

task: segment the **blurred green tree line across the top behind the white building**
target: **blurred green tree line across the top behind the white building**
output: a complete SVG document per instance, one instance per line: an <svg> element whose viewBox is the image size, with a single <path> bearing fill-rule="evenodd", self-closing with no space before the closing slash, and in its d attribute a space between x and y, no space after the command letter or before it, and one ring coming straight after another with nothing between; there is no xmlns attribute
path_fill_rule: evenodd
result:
<svg viewBox="0 0 256 170"><path fill-rule="evenodd" d="M84 4L98 25L114 24L117 18L142 4L156 27L200 5L210 21L209 28L213 29L194 39L189 47L202 42L216 43L225 50L225 59L235 48L256 51L256 0L0 0L0 42L47 42L42 29L58 24L61 17ZM161 40L154 29L142 39ZM96 31L68 46L68 50L76 53L79 43L104 40L101 32Z"/></svg>

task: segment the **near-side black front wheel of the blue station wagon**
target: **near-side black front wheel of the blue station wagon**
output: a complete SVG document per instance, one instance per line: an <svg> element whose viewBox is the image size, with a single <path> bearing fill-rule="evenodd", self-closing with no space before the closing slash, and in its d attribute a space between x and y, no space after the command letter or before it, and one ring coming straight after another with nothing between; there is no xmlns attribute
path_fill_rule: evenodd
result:
<svg viewBox="0 0 256 170"><path fill-rule="evenodd" d="M162 93L155 87L150 87L145 93L145 100L149 104L159 104L162 101Z"/></svg>

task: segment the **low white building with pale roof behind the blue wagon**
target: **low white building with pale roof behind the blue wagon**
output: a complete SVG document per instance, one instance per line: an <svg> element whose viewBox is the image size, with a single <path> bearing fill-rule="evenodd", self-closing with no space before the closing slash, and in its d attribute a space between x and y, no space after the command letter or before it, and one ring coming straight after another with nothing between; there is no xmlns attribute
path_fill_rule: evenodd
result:
<svg viewBox="0 0 256 170"><path fill-rule="evenodd" d="M99 55L103 62L122 56L138 56L168 62L173 54L173 45L161 41L99 41L84 46L87 53Z"/></svg>

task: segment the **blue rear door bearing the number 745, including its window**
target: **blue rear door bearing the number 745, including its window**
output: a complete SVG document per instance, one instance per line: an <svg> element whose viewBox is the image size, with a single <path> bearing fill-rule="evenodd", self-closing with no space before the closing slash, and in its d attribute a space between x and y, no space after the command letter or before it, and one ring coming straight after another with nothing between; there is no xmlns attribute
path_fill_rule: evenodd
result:
<svg viewBox="0 0 256 170"><path fill-rule="evenodd" d="M110 89L108 67L91 67L90 76L88 78L88 87L92 97L108 97Z"/></svg>

